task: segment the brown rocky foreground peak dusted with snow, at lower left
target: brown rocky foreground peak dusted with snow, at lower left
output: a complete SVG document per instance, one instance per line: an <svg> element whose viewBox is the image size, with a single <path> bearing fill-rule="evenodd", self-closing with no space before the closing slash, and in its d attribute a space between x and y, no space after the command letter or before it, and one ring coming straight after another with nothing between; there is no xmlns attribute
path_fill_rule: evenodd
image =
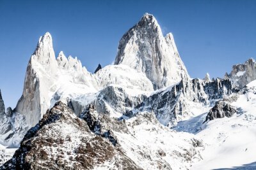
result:
<svg viewBox="0 0 256 170"><path fill-rule="evenodd" d="M109 164L104 163L109 162ZM141 169L107 139L59 102L31 128L1 169Z"/></svg>

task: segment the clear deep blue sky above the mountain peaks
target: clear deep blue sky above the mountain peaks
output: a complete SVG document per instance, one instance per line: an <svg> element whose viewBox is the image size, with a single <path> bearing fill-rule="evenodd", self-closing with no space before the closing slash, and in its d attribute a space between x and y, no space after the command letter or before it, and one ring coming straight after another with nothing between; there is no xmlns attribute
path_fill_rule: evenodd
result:
<svg viewBox="0 0 256 170"><path fill-rule="evenodd" d="M38 38L52 34L56 55L78 57L94 71L115 60L118 41L143 13L172 32L191 77L223 77L256 58L256 1L3 1L0 0L0 89L15 107Z"/></svg>

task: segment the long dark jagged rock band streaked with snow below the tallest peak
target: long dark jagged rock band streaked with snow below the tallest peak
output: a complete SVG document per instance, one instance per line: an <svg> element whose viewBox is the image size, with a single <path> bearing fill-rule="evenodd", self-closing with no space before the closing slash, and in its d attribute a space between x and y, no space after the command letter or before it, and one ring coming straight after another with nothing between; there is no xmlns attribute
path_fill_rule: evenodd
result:
<svg viewBox="0 0 256 170"><path fill-rule="evenodd" d="M95 104L97 112L108 113L113 117L125 115L131 118L141 111L154 112L159 122L172 127L180 120L195 115L195 108L204 110L212 101L223 99L235 92L230 80L221 79L211 82L199 79L182 80L167 89L138 95L132 95L122 87L109 85L95 96L91 104ZM75 106L73 108L77 115L89 104L77 99L71 99L71 103Z"/></svg>

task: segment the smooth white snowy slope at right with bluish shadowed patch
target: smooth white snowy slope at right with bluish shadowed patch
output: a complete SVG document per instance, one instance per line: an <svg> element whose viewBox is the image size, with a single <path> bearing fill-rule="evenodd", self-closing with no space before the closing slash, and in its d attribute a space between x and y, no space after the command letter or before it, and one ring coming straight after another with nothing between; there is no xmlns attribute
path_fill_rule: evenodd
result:
<svg viewBox="0 0 256 170"><path fill-rule="evenodd" d="M202 160L191 169L246 168L243 165L256 161L256 81L228 98L237 108L231 118L217 118L203 124L207 115L204 113L175 127L177 131L195 134L205 143Z"/></svg>

